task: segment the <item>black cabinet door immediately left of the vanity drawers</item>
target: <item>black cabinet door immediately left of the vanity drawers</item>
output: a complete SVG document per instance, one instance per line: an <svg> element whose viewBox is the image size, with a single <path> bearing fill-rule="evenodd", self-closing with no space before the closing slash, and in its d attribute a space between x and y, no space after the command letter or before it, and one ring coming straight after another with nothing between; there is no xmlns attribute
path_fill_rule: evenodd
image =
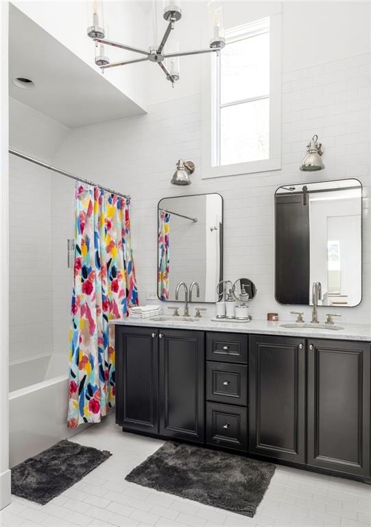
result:
<svg viewBox="0 0 371 527"><path fill-rule="evenodd" d="M160 434L204 442L204 333L159 330Z"/></svg>

